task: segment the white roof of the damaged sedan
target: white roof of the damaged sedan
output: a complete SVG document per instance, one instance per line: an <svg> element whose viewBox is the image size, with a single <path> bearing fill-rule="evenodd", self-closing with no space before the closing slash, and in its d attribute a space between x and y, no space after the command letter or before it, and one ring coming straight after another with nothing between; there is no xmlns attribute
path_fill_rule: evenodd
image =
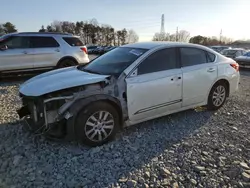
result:
<svg viewBox="0 0 250 188"><path fill-rule="evenodd" d="M122 47L130 47L130 48L144 48L144 49L153 49L160 46L166 47L178 47L178 46L187 46L187 47L199 47L199 48L206 48L205 46L192 44L192 43L185 43L185 42L165 42L165 41L152 41L152 42L137 42L132 44L126 44Z"/></svg>

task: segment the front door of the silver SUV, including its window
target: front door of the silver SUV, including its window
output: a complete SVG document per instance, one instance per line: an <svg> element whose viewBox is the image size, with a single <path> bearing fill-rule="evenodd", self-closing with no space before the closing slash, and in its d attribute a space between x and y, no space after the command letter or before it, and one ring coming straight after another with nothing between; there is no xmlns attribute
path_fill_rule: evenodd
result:
<svg viewBox="0 0 250 188"><path fill-rule="evenodd" d="M32 49L29 37L10 36L0 42L0 46L7 49L0 50L0 70L15 71L33 68Z"/></svg>

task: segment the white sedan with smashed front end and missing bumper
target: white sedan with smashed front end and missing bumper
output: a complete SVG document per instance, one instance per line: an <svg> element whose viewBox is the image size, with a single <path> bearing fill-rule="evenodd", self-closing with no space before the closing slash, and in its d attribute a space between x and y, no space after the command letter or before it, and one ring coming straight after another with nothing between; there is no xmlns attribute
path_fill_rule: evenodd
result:
<svg viewBox="0 0 250 188"><path fill-rule="evenodd" d="M18 113L36 133L96 146L123 126L198 106L217 110L238 90L239 78L234 60L207 47L134 43L86 66L28 80L20 87Z"/></svg>

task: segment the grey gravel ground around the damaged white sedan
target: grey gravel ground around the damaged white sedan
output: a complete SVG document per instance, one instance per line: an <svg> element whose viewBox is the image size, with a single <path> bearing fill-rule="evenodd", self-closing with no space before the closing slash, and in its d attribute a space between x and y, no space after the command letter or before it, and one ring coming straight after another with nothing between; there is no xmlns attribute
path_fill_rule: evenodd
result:
<svg viewBox="0 0 250 188"><path fill-rule="evenodd" d="M188 110L88 148L22 130L18 83L0 84L0 187L250 187L250 72L217 112Z"/></svg>

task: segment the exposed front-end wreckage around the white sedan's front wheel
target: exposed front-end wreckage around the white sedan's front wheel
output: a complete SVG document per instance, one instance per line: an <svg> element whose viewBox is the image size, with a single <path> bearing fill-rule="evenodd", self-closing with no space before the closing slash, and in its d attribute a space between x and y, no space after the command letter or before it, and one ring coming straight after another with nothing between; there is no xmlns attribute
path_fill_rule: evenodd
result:
<svg viewBox="0 0 250 188"><path fill-rule="evenodd" d="M34 118L34 114L36 114L38 116L37 119L42 121L43 124L42 128L39 128L40 133L72 140L75 138L74 124L78 112L92 102L106 100L119 107L122 124L128 113L126 98L124 97L124 92L126 92L124 79L122 79L123 81L119 80L115 77L109 77L102 82L85 85L84 89L79 89L79 91L73 92L71 95L63 96L63 92L60 93L59 91L57 96L54 97L43 98L43 96L40 98L42 100L42 105L38 108L40 111L34 110L36 106L34 103L32 107L23 107L19 116L20 118L27 118L27 113L29 112L28 118L32 119L32 123L29 123L31 124L30 126L37 127L32 126L32 124L38 123ZM57 108L51 106L51 104L56 103L61 105L57 106ZM23 113L25 109L27 110L26 114Z"/></svg>

